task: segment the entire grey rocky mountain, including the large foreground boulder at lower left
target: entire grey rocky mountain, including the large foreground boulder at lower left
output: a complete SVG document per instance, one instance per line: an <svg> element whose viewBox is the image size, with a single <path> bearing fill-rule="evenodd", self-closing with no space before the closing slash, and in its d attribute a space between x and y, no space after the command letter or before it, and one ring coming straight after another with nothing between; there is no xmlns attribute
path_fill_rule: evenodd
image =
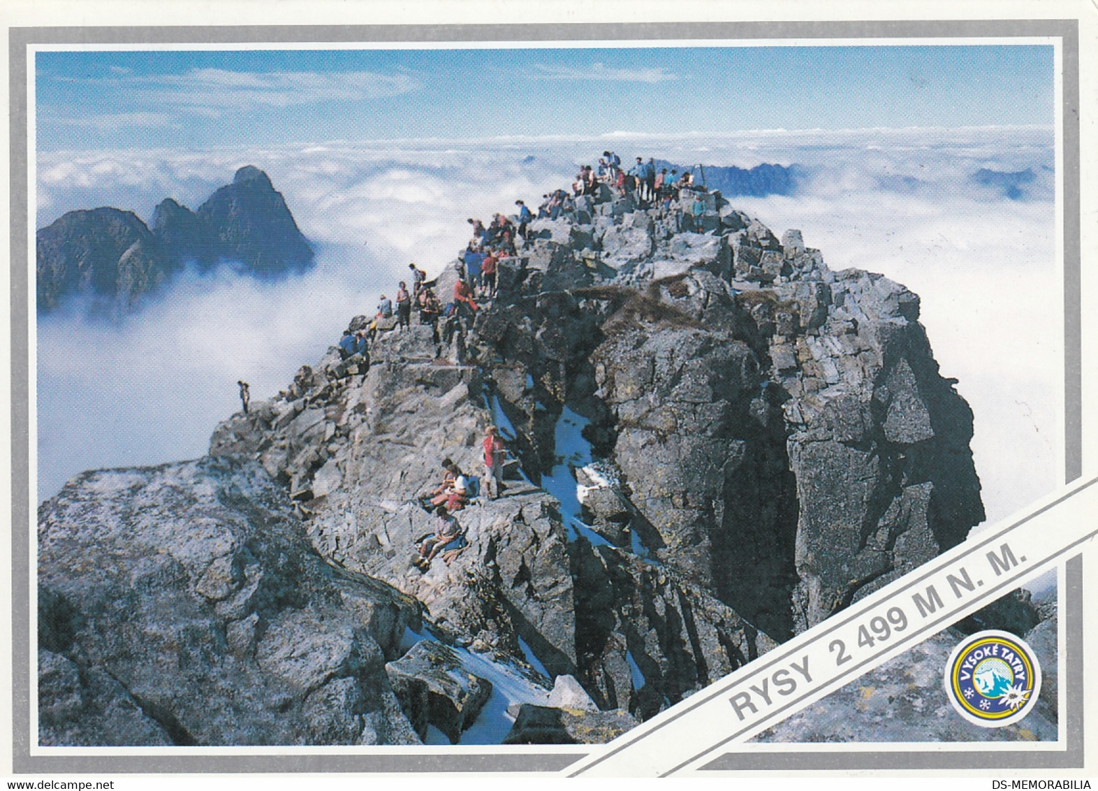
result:
<svg viewBox="0 0 1098 791"><path fill-rule="evenodd" d="M687 200L576 198L446 343L333 347L208 457L43 503L43 738L605 740L963 541L972 412L919 298ZM506 491L422 571L416 498L489 424Z"/></svg>

